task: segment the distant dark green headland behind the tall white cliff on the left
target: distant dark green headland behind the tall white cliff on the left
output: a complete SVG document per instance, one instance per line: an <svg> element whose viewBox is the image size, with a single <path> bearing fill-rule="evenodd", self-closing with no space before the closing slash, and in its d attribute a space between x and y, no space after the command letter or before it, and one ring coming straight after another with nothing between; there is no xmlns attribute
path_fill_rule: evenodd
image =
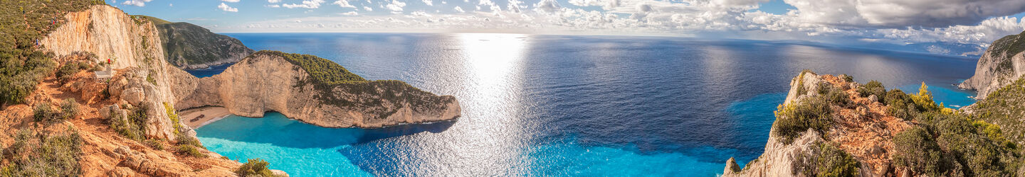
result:
<svg viewBox="0 0 1025 177"><path fill-rule="evenodd" d="M168 22L145 16L160 32L164 57L181 69L198 69L235 63L253 53L241 41L188 22Z"/></svg>

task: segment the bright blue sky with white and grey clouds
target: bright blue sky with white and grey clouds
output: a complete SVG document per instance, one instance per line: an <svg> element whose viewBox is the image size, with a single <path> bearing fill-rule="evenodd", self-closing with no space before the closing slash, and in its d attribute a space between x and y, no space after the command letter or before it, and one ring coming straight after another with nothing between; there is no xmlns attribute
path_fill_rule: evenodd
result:
<svg viewBox="0 0 1025 177"><path fill-rule="evenodd" d="M979 55L1025 31L1025 0L108 0L215 33L673 36L907 46Z"/></svg>

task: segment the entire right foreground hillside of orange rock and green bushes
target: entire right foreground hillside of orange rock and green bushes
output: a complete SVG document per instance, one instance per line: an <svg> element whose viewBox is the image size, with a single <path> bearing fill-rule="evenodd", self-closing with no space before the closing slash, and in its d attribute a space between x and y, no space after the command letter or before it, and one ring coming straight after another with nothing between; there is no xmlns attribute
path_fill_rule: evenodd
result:
<svg viewBox="0 0 1025 177"><path fill-rule="evenodd" d="M925 84L905 94L851 80L801 72L775 112L765 153L742 169L728 160L723 176L1025 175L1022 143L1001 133L1020 129L991 123L995 114L943 108ZM988 100L1007 102L1001 96Z"/></svg>

